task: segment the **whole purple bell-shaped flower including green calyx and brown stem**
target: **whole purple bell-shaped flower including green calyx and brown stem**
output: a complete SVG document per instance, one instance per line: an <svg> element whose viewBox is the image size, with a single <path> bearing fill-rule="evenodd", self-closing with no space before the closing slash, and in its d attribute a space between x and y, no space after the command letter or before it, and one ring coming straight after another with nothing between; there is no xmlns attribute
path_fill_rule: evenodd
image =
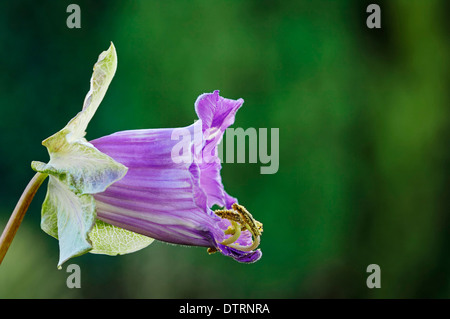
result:
<svg viewBox="0 0 450 319"><path fill-rule="evenodd" d="M50 160L32 162L37 173L0 239L0 262L46 177L41 228L59 240L58 267L87 252L122 255L154 240L206 247L244 263L259 260L262 224L225 191L217 155L243 100L205 93L195 102L198 120L190 126L121 131L87 141L86 128L116 68L111 43L94 65L81 112L42 142Z"/></svg>

